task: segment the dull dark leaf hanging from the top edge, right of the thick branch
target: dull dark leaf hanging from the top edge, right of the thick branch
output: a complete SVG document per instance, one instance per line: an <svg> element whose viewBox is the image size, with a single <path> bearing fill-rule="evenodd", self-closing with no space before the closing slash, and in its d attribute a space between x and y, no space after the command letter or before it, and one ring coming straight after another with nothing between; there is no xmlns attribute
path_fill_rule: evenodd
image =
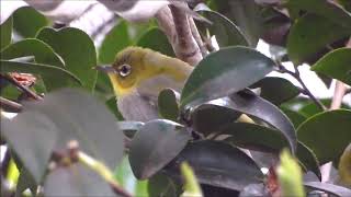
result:
<svg viewBox="0 0 351 197"><path fill-rule="evenodd" d="M254 0L215 0L218 12L240 27L251 47L256 47L262 32L262 16Z"/></svg>

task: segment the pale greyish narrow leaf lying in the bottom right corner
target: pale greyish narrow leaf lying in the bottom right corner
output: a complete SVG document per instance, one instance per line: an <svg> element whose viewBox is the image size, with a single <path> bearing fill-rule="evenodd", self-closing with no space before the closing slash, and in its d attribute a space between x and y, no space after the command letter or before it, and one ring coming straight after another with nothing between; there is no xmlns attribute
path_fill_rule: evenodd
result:
<svg viewBox="0 0 351 197"><path fill-rule="evenodd" d="M320 182L306 182L304 185L312 189L312 190L322 190L327 194L338 196L338 197L346 197L351 196L351 189L347 187L341 187L339 185L332 185L329 183L320 183Z"/></svg>

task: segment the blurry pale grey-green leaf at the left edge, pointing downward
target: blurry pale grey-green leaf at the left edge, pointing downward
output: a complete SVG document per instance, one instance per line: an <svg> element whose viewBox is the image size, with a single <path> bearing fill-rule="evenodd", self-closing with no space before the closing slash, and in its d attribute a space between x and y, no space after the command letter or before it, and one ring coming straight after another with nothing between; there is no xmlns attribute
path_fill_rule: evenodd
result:
<svg viewBox="0 0 351 197"><path fill-rule="evenodd" d="M13 119L1 118L1 135L39 184L54 150L58 128L44 114L23 112Z"/></svg>

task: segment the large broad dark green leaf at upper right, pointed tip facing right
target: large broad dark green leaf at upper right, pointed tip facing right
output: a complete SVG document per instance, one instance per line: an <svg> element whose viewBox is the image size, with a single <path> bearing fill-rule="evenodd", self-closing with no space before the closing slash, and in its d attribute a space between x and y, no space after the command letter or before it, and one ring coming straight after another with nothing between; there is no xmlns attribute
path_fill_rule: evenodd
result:
<svg viewBox="0 0 351 197"><path fill-rule="evenodd" d="M287 54L297 66L326 45L350 34L351 28L342 27L322 16L306 14L291 27L286 45Z"/></svg>

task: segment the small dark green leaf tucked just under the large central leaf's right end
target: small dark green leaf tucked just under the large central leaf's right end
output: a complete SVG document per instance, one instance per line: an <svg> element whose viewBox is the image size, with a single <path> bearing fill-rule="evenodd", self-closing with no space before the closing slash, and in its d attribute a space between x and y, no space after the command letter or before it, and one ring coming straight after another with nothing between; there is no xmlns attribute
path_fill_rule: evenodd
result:
<svg viewBox="0 0 351 197"><path fill-rule="evenodd" d="M260 88L260 96L274 105L280 105L299 94L299 90L288 80L268 77L258 81L251 88Z"/></svg>

